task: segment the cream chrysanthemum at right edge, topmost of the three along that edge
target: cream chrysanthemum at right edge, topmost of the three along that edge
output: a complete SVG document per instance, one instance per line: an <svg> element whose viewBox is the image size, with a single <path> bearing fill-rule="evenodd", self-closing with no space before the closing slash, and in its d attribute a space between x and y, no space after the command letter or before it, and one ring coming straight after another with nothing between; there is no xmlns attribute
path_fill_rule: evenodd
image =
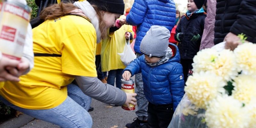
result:
<svg viewBox="0 0 256 128"><path fill-rule="evenodd" d="M256 44L244 43L238 45L234 50L238 71L242 74L256 74Z"/></svg>

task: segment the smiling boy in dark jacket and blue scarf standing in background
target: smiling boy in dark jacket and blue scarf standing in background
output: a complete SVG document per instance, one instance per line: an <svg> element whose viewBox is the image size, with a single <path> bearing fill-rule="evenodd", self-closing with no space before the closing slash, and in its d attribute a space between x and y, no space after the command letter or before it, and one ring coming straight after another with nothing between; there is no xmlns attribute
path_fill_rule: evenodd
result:
<svg viewBox="0 0 256 128"><path fill-rule="evenodd" d="M202 8L204 0L188 0L188 12L180 20L174 39L180 50L180 63L183 67L184 81L192 75L193 58L199 51L204 31L206 13Z"/></svg>

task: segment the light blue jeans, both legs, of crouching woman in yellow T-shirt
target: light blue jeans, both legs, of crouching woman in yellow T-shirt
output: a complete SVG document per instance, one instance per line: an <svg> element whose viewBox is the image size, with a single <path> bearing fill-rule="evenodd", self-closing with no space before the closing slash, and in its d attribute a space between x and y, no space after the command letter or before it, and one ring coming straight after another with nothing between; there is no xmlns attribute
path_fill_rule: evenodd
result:
<svg viewBox="0 0 256 128"><path fill-rule="evenodd" d="M86 96L75 84L68 85L68 96L59 106L50 109L26 109L13 105L0 96L5 105L19 110L29 116L35 117L62 128L91 128L92 117L87 112L90 108L92 98ZM74 99L72 99L74 98ZM77 100L77 101L76 101ZM82 107L80 106L82 105Z"/></svg>

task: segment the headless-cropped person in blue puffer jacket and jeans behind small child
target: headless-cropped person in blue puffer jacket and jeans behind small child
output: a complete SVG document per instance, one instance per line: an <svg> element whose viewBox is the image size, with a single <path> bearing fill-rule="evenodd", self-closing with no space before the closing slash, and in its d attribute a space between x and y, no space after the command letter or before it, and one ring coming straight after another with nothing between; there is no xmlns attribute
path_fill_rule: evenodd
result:
<svg viewBox="0 0 256 128"><path fill-rule="evenodd" d="M129 14L126 16L126 23L137 26L137 36L134 44L134 51L137 58L142 55L140 52L140 42L152 25L164 26L170 32L175 25L176 8L173 0L135 0ZM135 92L138 109L135 112L138 118L126 124L127 128L142 128L141 125L147 123L148 101L143 93L143 82L141 74L135 75Z"/></svg>

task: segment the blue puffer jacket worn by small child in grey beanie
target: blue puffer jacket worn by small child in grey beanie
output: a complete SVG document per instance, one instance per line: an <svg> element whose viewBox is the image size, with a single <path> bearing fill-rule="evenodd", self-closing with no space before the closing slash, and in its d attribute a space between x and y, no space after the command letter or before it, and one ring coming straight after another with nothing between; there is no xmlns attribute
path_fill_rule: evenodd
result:
<svg viewBox="0 0 256 128"><path fill-rule="evenodd" d="M124 71L130 71L132 76L142 74L144 94L150 103L155 105L173 103L175 110L184 95L185 83L182 66L179 63L179 50L174 44L172 47L174 56L166 63L149 67L144 60L145 56L142 55L132 61Z"/></svg>

